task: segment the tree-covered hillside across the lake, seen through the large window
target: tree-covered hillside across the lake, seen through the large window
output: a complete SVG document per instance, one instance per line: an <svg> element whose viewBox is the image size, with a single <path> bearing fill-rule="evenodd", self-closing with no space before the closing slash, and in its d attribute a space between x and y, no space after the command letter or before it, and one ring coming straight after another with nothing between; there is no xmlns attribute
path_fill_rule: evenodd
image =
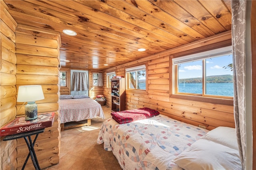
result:
<svg viewBox="0 0 256 170"><path fill-rule="evenodd" d="M179 83L202 83L202 78L184 78L180 79ZM233 76L230 74L207 76L206 83L233 83Z"/></svg>

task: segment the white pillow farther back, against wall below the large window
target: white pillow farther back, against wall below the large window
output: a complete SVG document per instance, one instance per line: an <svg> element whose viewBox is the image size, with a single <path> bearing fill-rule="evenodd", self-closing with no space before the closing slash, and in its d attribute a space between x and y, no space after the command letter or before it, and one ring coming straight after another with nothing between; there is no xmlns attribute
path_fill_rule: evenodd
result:
<svg viewBox="0 0 256 170"><path fill-rule="evenodd" d="M207 139L209 141L238 150L236 129L232 127L217 127L209 131L204 137L202 137L202 139Z"/></svg>

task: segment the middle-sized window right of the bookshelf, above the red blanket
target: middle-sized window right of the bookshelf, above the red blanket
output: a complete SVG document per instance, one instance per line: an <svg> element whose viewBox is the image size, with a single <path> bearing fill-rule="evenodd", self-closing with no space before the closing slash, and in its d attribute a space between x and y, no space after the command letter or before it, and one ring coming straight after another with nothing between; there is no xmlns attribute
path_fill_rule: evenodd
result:
<svg viewBox="0 0 256 170"><path fill-rule="evenodd" d="M146 65L126 68L127 89L146 90Z"/></svg>

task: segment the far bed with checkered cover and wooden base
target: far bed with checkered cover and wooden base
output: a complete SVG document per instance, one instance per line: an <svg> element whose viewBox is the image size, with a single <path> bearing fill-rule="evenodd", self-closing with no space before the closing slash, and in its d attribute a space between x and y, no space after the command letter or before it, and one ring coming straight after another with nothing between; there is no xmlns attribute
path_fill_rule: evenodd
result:
<svg viewBox="0 0 256 170"><path fill-rule="evenodd" d="M104 119L101 105L86 95L60 95L60 127L61 131L74 127L90 126L91 119ZM65 126L64 123L70 123Z"/></svg>

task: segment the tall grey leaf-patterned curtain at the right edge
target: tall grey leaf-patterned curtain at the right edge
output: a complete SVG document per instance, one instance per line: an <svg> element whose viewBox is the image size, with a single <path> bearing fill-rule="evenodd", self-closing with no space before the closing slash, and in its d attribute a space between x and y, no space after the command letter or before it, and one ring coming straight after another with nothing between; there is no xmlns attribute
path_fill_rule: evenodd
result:
<svg viewBox="0 0 256 170"><path fill-rule="evenodd" d="M243 169L246 158L245 127L245 35L246 0L232 0L232 48L234 78L234 118L239 154Z"/></svg>

